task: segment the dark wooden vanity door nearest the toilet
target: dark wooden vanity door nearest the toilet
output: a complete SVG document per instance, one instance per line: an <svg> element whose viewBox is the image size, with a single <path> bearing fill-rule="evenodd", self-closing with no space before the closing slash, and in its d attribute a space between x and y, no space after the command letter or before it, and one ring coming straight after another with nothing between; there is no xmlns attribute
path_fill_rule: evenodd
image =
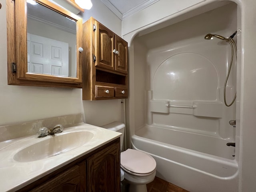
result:
<svg viewBox="0 0 256 192"><path fill-rule="evenodd" d="M120 140L90 156L88 192L120 192Z"/></svg>

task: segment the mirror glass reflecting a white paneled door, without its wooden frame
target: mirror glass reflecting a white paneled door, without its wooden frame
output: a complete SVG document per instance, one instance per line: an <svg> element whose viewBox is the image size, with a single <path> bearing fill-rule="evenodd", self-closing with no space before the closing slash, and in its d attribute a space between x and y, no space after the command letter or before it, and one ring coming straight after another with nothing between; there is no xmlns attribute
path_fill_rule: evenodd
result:
<svg viewBox="0 0 256 192"><path fill-rule="evenodd" d="M28 72L76 77L76 21L27 1Z"/></svg>

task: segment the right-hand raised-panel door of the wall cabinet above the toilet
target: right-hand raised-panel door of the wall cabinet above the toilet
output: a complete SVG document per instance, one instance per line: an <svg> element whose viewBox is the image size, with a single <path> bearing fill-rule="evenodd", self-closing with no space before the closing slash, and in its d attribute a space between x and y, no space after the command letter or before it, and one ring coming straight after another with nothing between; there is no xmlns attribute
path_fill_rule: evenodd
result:
<svg viewBox="0 0 256 192"><path fill-rule="evenodd" d="M116 50L118 54L115 54L115 70L121 73L127 74L127 53L128 43L122 38L116 36Z"/></svg>

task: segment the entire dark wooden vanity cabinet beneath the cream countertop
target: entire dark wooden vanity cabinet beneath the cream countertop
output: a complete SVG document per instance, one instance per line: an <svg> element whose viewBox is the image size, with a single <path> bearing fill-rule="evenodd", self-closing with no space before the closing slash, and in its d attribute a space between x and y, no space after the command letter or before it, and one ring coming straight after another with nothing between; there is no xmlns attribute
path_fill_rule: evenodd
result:
<svg viewBox="0 0 256 192"><path fill-rule="evenodd" d="M119 192L120 138L18 190L28 191Z"/></svg>

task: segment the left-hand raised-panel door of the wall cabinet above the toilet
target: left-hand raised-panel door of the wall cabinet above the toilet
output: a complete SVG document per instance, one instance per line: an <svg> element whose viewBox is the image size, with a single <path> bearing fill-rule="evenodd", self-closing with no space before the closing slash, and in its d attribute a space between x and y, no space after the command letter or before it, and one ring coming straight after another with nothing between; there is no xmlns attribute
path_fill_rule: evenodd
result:
<svg viewBox="0 0 256 192"><path fill-rule="evenodd" d="M97 23L96 27L96 62L95 66L114 70L114 33Z"/></svg>

